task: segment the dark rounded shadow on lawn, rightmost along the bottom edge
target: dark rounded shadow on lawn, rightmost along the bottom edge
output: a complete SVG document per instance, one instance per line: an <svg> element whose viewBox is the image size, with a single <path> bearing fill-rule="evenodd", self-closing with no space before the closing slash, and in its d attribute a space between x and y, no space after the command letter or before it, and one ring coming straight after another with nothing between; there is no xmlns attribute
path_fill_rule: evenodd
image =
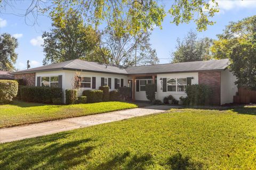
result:
<svg viewBox="0 0 256 170"><path fill-rule="evenodd" d="M202 169L203 164L199 162L192 162L191 158L188 156L182 156L181 153L177 153L169 158L167 165L170 166L172 170L179 170L179 169Z"/></svg>

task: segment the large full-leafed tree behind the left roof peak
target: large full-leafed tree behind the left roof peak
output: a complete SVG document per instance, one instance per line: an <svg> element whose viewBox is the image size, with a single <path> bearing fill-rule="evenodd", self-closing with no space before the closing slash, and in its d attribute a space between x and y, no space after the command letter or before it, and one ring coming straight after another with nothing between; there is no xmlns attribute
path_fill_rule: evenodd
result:
<svg viewBox="0 0 256 170"><path fill-rule="evenodd" d="M84 25L81 15L69 10L65 16L64 24L54 22L50 32L43 33L43 51L45 58L43 64L58 63L73 59L87 61L103 61L102 54L109 57L105 48L99 49L100 33ZM58 20L59 17L53 18ZM108 60L108 58L107 58Z"/></svg>

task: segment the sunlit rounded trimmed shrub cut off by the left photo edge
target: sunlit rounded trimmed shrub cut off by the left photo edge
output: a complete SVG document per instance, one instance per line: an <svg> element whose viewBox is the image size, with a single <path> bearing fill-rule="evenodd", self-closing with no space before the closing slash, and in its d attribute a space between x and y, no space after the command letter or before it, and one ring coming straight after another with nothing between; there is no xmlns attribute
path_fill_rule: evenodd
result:
<svg viewBox="0 0 256 170"><path fill-rule="evenodd" d="M15 80L0 80L0 103L10 103L18 92L18 82Z"/></svg>

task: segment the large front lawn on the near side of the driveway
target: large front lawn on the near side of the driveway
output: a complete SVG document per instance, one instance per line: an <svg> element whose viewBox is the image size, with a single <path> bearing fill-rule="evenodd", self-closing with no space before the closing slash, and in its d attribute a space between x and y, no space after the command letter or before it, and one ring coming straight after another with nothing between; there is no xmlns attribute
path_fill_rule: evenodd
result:
<svg viewBox="0 0 256 170"><path fill-rule="evenodd" d="M255 169L256 107L164 114L0 145L2 169Z"/></svg>

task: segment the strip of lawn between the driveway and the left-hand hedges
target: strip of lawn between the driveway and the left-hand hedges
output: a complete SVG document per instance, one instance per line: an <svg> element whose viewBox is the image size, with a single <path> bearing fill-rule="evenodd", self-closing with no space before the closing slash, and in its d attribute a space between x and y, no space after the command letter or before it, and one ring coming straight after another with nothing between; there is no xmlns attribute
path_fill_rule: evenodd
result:
<svg viewBox="0 0 256 170"><path fill-rule="evenodd" d="M77 105L45 105L14 101L13 104L0 105L0 128L118 111L135 107L137 107L137 105L114 101Z"/></svg>

